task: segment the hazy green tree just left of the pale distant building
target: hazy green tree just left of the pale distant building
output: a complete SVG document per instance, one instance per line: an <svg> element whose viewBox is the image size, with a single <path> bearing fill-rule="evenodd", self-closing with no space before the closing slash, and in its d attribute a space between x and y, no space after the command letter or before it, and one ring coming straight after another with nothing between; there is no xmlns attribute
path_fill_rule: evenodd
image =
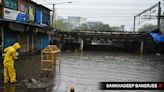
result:
<svg viewBox="0 0 164 92"><path fill-rule="evenodd" d="M54 26L60 31L71 31L72 25L68 22L65 22L63 19L60 19L55 21Z"/></svg>

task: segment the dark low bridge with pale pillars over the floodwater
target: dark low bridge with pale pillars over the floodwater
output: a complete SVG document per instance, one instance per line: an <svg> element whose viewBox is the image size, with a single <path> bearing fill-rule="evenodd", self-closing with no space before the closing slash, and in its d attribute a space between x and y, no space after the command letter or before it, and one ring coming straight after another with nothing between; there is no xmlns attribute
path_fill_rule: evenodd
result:
<svg viewBox="0 0 164 92"><path fill-rule="evenodd" d="M90 45L111 45L111 44L127 44L139 43L141 53L143 52L143 34L142 32L127 32L127 31L56 31L53 40L59 42L80 44L80 49L83 50L84 44Z"/></svg>

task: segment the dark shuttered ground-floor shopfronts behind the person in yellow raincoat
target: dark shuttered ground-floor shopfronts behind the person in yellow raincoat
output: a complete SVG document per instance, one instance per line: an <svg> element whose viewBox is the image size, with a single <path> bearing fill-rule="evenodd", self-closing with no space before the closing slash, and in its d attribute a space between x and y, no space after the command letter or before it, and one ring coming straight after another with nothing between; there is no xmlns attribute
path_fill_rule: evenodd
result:
<svg viewBox="0 0 164 92"><path fill-rule="evenodd" d="M49 44L48 32L42 27L24 23L13 23L11 21L3 21L2 25L3 32L1 32L1 35L4 35L1 37L4 39L3 48L19 42L21 45L20 52L27 53L40 51Z"/></svg>

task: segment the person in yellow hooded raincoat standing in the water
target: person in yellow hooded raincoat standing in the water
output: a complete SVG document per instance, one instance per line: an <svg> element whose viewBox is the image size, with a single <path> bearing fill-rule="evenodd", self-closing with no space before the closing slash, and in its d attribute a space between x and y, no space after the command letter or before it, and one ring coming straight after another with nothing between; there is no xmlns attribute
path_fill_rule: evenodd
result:
<svg viewBox="0 0 164 92"><path fill-rule="evenodd" d="M9 46L4 49L5 57L3 61L4 65L4 83L8 83L10 79L10 83L16 82L16 73L14 69L14 60L16 57L16 50L21 48L19 43L15 43L13 46Z"/></svg>

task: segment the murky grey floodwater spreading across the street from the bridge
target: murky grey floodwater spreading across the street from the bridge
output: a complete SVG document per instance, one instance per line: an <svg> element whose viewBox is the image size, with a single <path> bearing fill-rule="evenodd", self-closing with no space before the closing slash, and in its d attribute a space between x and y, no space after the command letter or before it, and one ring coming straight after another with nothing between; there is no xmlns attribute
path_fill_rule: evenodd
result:
<svg viewBox="0 0 164 92"><path fill-rule="evenodd" d="M0 92L69 92L70 86L74 86L75 92L127 92L127 90L99 90L98 84L99 82L114 81L164 81L163 55L156 56L155 54L146 54L140 56L139 54L130 52L67 51L62 53L62 60L59 62L60 60L58 59L56 73L51 80L51 82L54 83L53 87L27 88L21 87L20 85L14 87L10 85L11 87L1 87L2 91L0 90ZM14 89L14 91L12 89ZM128 92L163 91L139 90Z"/></svg>

